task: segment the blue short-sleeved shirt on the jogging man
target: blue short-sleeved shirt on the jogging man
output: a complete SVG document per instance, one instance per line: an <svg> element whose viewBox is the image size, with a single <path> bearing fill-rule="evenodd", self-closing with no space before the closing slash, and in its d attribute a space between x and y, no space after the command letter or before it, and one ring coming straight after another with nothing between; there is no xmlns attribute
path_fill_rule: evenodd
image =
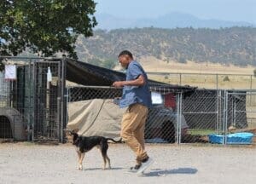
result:
<svg viewBox="0 0 256 184"><path fill-rule="evenodd" d="M135 80L140 75L143 75L143 78L145 79L145 83L142 86L124 86L123 95L119 101L119 106L121 108L136 103L148 107L152 106L151 93L148 89L148 76L146 72L144 72L143 67L136 60L132 60L126 71L126 81Z"/></svg>

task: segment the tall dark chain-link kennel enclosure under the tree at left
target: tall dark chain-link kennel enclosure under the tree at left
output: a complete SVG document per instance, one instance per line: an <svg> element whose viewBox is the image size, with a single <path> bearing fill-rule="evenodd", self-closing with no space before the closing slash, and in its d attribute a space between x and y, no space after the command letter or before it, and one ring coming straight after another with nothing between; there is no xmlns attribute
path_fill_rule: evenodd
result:
<svg viewBox="0 0 256 184"><path fill-rule="evenodd" d="M64 60L2 57L0 139L62 141Z"/></svg>

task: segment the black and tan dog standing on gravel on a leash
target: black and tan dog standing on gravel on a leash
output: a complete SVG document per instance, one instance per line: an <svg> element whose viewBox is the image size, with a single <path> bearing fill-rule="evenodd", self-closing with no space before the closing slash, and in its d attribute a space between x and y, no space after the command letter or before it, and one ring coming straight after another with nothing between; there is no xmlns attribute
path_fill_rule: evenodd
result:
<svg viewBox="0 0 256 184"><path fill-rule="evenodd" d="M67 131L67 135L72 137L72 143L76 147L76 151L79 156L79 170L83 170L83 159L85 152L89 152L93 147L97 147L102 152L102 158L104 161L102 170L106 169L106 164L108 161L108 168L111 168L110 159L108 158L108 141L113 141L115 143L121 142L114 141L111 138L105 138L103 136L81 136L78 135L78 130Z"/></svg>

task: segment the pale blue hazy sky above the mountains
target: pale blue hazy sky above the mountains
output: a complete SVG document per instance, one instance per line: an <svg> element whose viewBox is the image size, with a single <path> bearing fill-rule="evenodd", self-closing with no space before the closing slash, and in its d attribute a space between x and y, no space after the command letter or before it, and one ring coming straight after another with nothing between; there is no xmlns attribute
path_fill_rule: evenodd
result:
<svg viewBox="0 0 256 184"><path fill-rule="evenodd" d="M95 0L96 14L149 18L171 12L193 14L201 19L256 23L256 0Z"/></svg>

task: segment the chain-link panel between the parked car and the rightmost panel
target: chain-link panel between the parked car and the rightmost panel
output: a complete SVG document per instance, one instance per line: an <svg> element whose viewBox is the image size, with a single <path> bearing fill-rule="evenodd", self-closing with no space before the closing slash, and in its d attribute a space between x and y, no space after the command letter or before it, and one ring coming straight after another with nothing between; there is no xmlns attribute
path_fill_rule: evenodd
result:
<svg viewBox="0 0 256 184"><path fill-rule="evenodd" d="M208 135L223 132L221 122L221 92L197 89L183 99L182 114L188 130L181 135L181 142L208 142Z"/></svg>

